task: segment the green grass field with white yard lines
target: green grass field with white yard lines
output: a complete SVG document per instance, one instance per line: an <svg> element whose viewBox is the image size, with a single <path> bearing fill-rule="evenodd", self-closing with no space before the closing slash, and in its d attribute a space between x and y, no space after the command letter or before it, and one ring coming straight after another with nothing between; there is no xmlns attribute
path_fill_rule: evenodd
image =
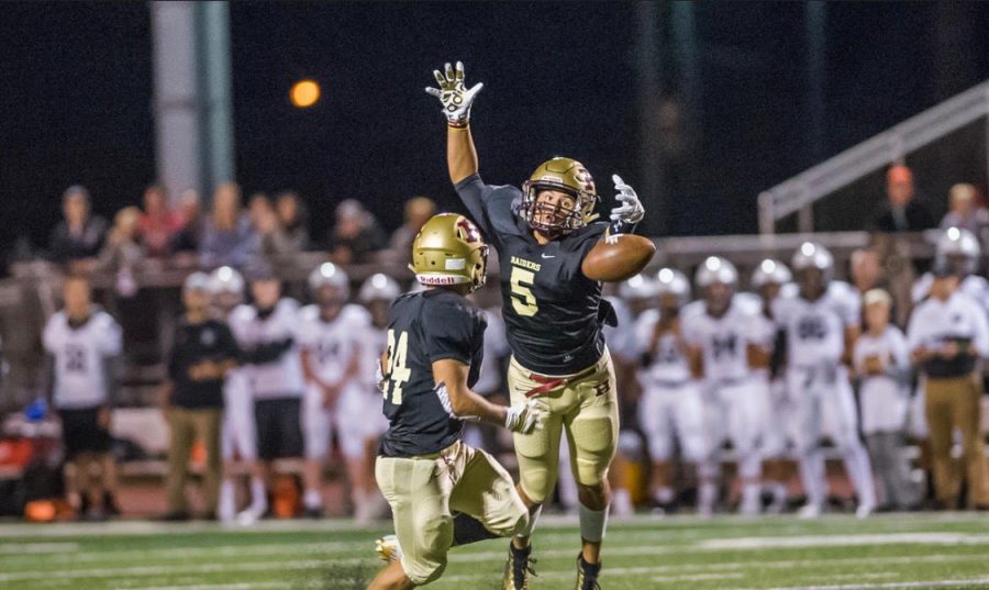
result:
<svg viewBox="0 0 989 590"><path fill-rule="evenodd" d="M0 588L254 590L365 588L385 532L343 521L0 524ZM493 590L505 542L454 549L437 590ZM544 519L533 590L574 587L576 523ZM989 588L989 515L613 521L603 590Z"/></svg>

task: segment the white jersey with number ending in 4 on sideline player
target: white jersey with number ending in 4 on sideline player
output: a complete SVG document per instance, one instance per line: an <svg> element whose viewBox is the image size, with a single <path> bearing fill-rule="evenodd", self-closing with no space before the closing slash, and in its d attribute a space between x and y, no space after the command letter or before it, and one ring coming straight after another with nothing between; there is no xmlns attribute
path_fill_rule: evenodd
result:
<svg viewBox="0 0 989 590"><path fill-rule="evenodd" d="M700 305L696 305L700 303ZM691 303L684 316L687 342L700 346L703 354L704 378L713 381L741 381L753 372L748 367L746 348L764 345L766 336L759 331L758 316L751 305L735 301L721 318L708 314L704 302Z"/></svg>

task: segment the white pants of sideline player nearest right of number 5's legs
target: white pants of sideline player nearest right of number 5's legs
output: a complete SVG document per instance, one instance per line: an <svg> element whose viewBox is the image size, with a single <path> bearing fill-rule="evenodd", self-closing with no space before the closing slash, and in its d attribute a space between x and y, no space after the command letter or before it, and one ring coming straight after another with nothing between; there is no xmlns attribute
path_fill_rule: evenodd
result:
<svg viewBox="0 0 989 590"><path fill-rule="evenodd" d="M708 455L703 412L700 391L691 382L645 389L638 402L638 424L648 444L649 458L669 460L676 441L685 461L700 463Z"/></svg>

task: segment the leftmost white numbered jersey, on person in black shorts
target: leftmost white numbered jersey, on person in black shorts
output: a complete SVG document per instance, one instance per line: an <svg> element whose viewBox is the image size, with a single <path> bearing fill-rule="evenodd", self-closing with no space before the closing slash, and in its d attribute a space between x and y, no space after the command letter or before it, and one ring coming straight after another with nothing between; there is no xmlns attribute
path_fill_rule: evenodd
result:
<svg viewBox="0 0 989 590"><path fill-rule="evenodd" d="M107 312L95 311L85 324L71 327L65 311L52 315L42 334L45 350L55 357L53 402L56 408L92 408L107 401L103 360L120 354L120 324Z"/></svg>

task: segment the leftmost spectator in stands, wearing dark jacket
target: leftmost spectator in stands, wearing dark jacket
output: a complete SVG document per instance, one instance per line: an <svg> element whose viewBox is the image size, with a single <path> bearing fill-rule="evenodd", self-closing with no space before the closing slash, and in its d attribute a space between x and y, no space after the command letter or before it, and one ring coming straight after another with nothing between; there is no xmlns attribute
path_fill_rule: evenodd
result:
<svg viewBox="0 0 989 590"><path fill-rule="evenodd" d="M52 259L69 263L99 254L107 222L90 215L89 191L78 185L67 188L62 197L62 213L65 219L55 226L48 246Z"/></svg>

